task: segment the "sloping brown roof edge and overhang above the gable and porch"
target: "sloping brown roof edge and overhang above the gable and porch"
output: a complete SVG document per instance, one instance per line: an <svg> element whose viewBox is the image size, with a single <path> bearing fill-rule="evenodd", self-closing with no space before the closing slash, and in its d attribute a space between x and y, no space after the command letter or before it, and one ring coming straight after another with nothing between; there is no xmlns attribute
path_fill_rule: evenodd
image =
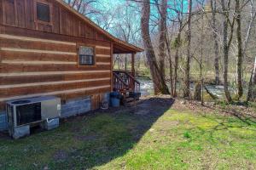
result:
<svg viewBox="0 0 256 170"><path fill-rule="evenodd" d="M124 42L117 37L113 37L108 31L103 30L100 26L97 26L92 20L80 14L74 8L70 7L67 3L62 0L55 0L57 3L60 3L64 8L71 11L73 14L77 15L81 20L84 20L87 24L96 29L96 31L101 32L103 35L108 37L111 41L113 41L113 54L131 54L131 53L139 53L143 52L143 48L138 48L131 43Z"/></svg>

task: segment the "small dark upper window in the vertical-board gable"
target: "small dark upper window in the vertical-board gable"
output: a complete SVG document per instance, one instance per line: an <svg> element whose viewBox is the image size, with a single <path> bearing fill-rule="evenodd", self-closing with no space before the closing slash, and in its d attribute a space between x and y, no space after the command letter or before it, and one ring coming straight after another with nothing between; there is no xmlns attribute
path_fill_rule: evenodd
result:
<svg viewBox="0 0 256 170"><path fill-rule="evenodd" d="M37 3L37 18L40 21L50 22L49 4Z"/></svg>

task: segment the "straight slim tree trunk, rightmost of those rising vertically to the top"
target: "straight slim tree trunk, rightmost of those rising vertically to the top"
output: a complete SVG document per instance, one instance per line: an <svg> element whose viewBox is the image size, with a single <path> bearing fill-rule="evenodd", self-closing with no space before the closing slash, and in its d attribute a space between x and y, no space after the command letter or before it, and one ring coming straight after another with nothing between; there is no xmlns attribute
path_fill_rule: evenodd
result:
<svg viewBox="0 0 256 170"><path fill-rule="evenodd" d="M238 97L241 98L243 94L242 89L242 42L241 42L241 7L240 7L240 0L236 0L236 40L237 40L237 62L236 62L236 79L237 79L237 88L238 88Z"/></svg>

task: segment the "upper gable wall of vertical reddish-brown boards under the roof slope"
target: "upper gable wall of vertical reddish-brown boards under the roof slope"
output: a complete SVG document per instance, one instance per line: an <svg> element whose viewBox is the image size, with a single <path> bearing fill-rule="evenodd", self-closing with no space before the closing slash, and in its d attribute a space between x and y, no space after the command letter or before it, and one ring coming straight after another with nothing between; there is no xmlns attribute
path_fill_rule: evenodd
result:
<svg viewBox="0 0 256 170"><path fill-rule="evenodd" d="M36 19L37 1L49 3L52 7L51 23L42 24ZM46 31L73 37L108 41L108 37L96 31L55 0L0 0L0 24L37 31Z"/></svg>

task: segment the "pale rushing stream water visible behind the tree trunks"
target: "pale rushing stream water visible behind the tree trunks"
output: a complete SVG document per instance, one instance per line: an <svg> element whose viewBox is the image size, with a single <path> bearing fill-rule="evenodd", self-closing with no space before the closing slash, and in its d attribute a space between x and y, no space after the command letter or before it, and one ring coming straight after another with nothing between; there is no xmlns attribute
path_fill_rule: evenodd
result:
<svg viewBox="0 0 256 170"><path fill-rule="evenodd" d="M139 82L141 82L141 92L142 95L153 94L154 84L152 80L148 78L137 78ZM178 88L178 87L177 87ZM190 84L190 89L193 91L194 84ZM207 89L214 95L218 96L219 99L224 99L224 86L216 86L216 85L207 85ZM177 89L180 90L180 89ZM230 93L235 94L235 89L230 88Z"/></svg>

